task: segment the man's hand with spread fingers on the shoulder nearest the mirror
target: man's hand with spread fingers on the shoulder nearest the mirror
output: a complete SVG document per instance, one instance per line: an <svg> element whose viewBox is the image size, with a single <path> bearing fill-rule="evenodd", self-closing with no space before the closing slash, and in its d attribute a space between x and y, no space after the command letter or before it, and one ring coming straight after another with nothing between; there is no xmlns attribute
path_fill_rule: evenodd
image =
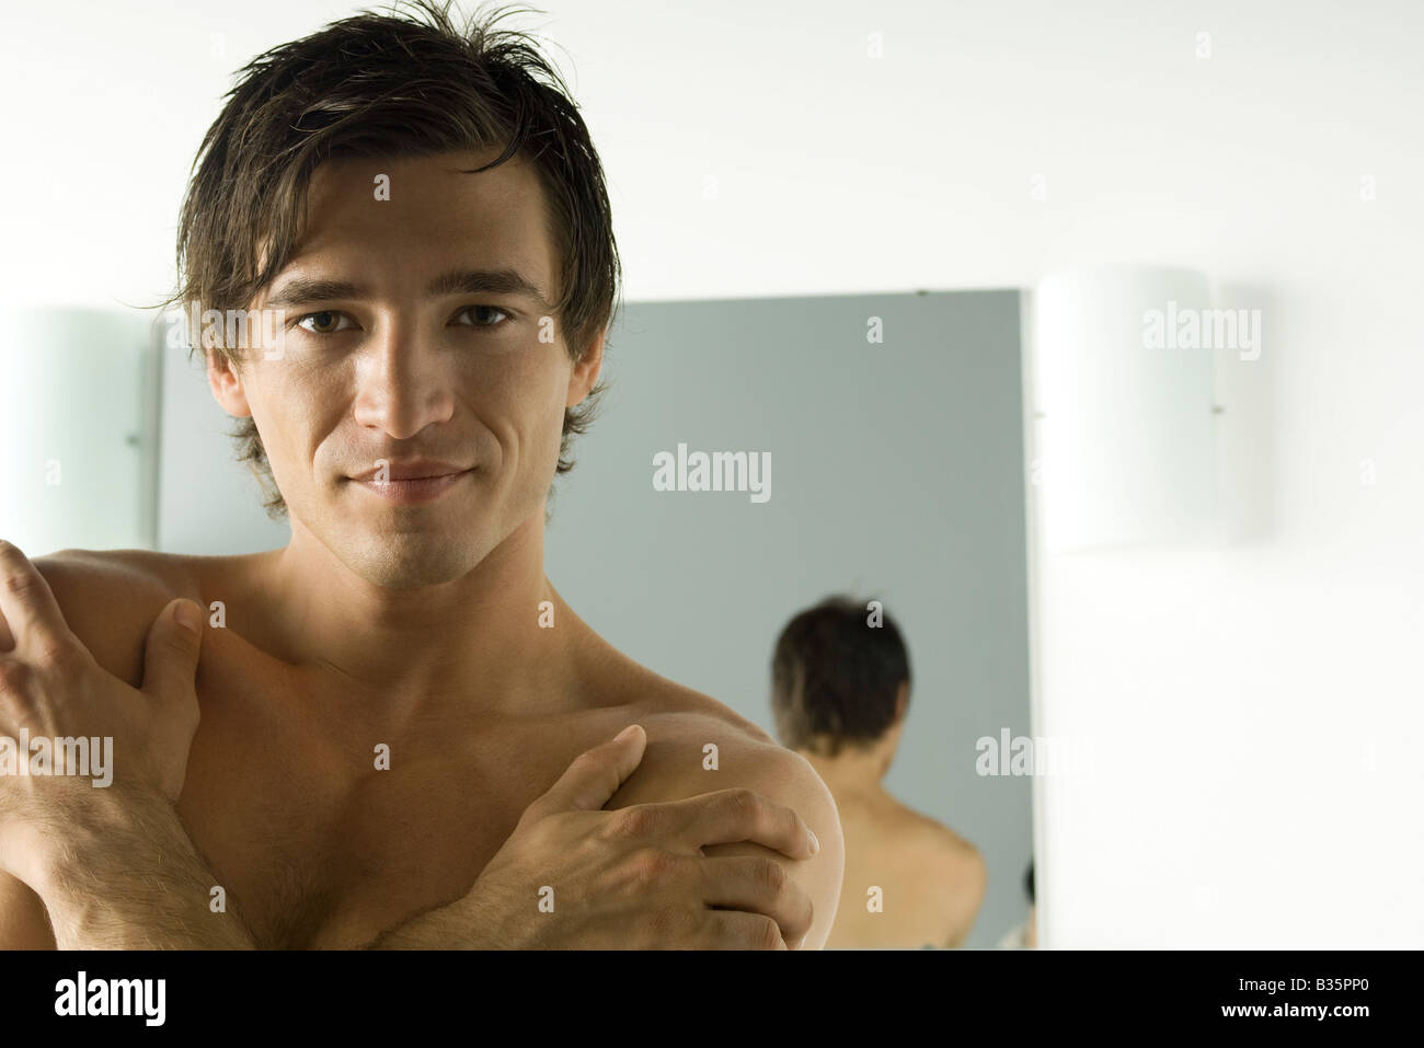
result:
<svg viewBox="0 0 1424 1048"><path fill-rule="evenodd" d="M789 859L819 844L789 807L750 790L601 810L642 760L641 726L581 753L520 817L460 901L377 948L768 948L800 945L807 894L768 857L702 854L753 842ZM543 901L543 907L541 907Z"/></svg>

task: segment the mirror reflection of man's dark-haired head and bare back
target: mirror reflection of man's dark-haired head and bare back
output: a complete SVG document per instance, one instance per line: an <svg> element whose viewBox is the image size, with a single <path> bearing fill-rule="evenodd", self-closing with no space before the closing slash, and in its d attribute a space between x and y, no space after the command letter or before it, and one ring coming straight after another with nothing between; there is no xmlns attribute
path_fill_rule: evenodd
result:
<svg viewBox="0 0 1424 1048"><path fill-rule="evenodd" d="M772 659L776 730L830 786L846 834L827 947L960 945L984 901L978 850L880 785L909 702L910 656L883 609L834 597L782 629Z"/></svg>

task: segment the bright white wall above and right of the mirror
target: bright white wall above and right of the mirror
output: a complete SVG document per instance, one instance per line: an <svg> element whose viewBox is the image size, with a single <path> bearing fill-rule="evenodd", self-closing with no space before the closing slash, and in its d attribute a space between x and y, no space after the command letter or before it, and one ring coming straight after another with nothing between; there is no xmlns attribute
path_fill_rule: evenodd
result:
<svg viewBox="0 0 1424 1048"><path fill-rule="evenodd" d="M1041 564L1040 730L1129 733L1095 785L1047 783L1044 938L1424 944L1424 9L544 6L520 24L567 51L629 299L1028 286L1145 261L1263 309L1260 360L1223 379L1255 538ZM10 13L6 296L165 292L228 73L350 10ZM1247 759L1218 776L1199 755L1225 740ZM1128 770L1143 759L1176 770Z"/></svg>

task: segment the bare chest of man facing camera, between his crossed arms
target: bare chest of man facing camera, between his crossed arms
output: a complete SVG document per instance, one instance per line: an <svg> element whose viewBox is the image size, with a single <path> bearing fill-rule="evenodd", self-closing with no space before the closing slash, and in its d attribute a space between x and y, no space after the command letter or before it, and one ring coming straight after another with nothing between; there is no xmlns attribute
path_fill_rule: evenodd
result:
<svg viewBox="0 0 1424 1048"><path fill-rule="evenodd" d="M617 709L397 726L349 696L222 671L199 672L179 814L214 897L263 948L357 948L460 898L528 803L622 726Z"/></svg>

